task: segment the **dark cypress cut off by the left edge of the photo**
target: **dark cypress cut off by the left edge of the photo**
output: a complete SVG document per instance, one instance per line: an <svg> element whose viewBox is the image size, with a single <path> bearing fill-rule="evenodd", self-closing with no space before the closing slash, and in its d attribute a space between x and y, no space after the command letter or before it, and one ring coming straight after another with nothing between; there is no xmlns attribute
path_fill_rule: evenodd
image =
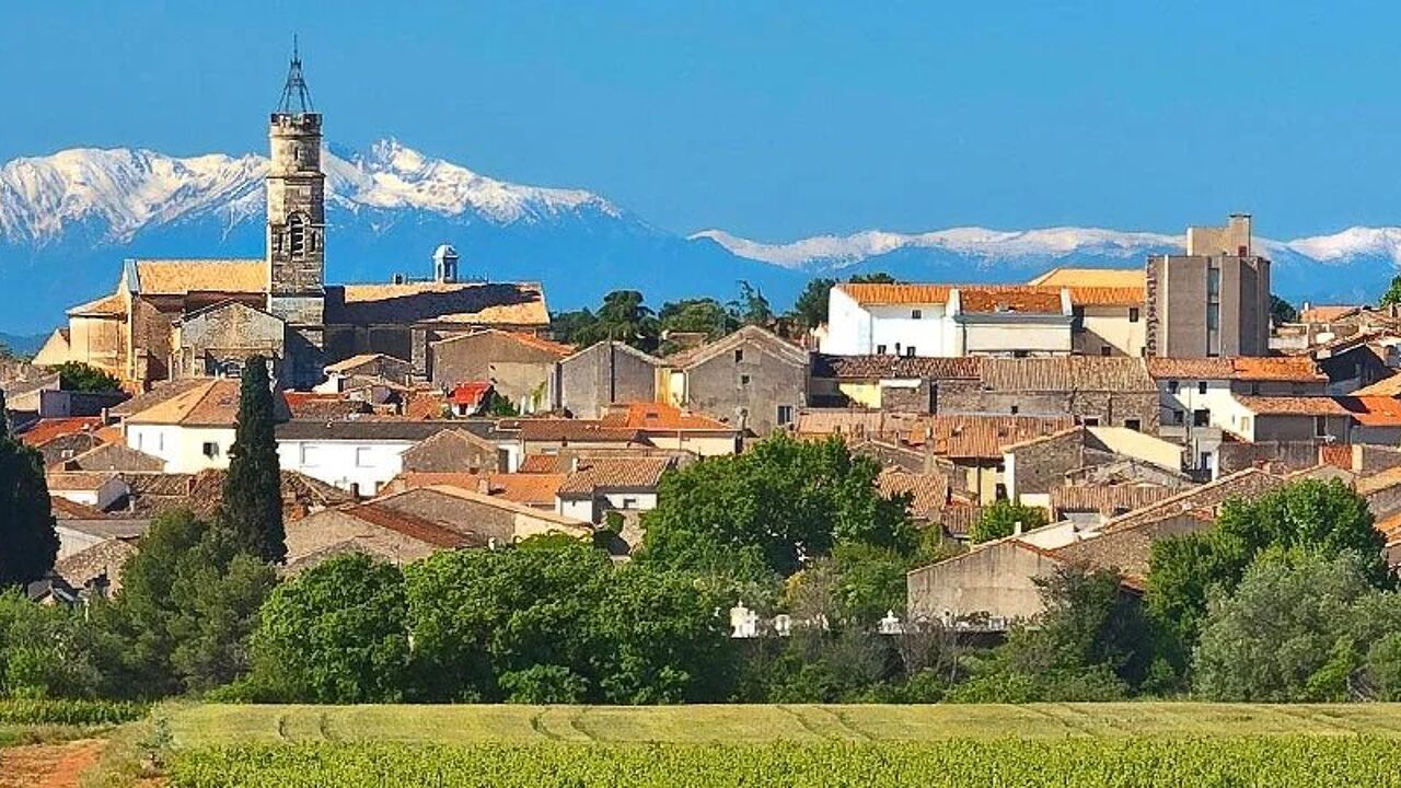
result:
<svg viewBox="0 0 1401 788"><path fill-rule="evenodd" d="M0 587L43 578L57 557L43 458L10 436L0 391Z"/></svg>

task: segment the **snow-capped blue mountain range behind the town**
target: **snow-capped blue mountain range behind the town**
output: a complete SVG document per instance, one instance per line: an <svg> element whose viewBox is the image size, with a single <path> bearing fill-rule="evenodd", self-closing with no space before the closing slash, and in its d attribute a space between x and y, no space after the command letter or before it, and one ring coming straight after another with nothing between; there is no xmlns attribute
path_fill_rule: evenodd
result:
<svg viewBox="0 0 1401 788"><path fill-rule="evenodd" d="M493 179L381 140L328 146L328 282L426 276L432 250L454 244L461 272L539 280L552 308L639 289L649 303L730 299L747 280L786 306L813 276L888 272L908 280L1014 282L1055 265L1132 266L1180 250L1182 236L1052 227L869 230L762 243L724 230L657 227L581 189ZM268 160L172 157L142 149L71 149L0 167L0 276L13 283L0 330L46 331L63 308L111 292L129 257L261 257ZM1401 227L1257 238L1286 299L1374 299L1401 265ZM17 296L14 293L22 293Z"/></svg>

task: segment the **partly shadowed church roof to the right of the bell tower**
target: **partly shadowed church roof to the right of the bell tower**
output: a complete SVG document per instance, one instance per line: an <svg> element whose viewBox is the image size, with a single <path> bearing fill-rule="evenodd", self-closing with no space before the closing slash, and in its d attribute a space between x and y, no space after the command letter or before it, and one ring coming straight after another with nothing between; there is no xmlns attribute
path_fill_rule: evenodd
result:
<svg viewBox="0 0 1401 788"><path fill-rule="evenodd" d="M326 287L326 322L353 325L453 322L549 325L545 293L534 282L410 282Z"/></svg>

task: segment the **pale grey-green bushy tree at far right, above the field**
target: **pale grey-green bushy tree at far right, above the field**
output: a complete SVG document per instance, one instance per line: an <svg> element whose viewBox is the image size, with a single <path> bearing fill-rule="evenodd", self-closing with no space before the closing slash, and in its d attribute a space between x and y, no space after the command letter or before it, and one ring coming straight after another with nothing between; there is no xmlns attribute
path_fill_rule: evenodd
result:
<svg viewBox="0 0 1401 788"><path fill-rule="evenodd" d="M1262 552L1234 590L1212 596L1192 656L1196 691L1250 702L1394 691L1383 644L1401 634L1401 596L1373 586L1370 564L1351 551Z"/></svg>

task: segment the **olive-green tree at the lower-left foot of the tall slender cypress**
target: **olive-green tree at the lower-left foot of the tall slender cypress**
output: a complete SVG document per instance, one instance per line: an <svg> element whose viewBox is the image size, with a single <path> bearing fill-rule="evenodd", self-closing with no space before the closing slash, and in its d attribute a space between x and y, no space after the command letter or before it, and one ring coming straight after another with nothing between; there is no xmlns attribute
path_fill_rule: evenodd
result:
<svg viewBox="0 0 1401 788"><path fill-rule="evenodd" d="M122 589L92 611L127 691L206 691L248 669L248 637L276 585L272 566L223 529L185 510L161 515L122 572Z"/></svg>

